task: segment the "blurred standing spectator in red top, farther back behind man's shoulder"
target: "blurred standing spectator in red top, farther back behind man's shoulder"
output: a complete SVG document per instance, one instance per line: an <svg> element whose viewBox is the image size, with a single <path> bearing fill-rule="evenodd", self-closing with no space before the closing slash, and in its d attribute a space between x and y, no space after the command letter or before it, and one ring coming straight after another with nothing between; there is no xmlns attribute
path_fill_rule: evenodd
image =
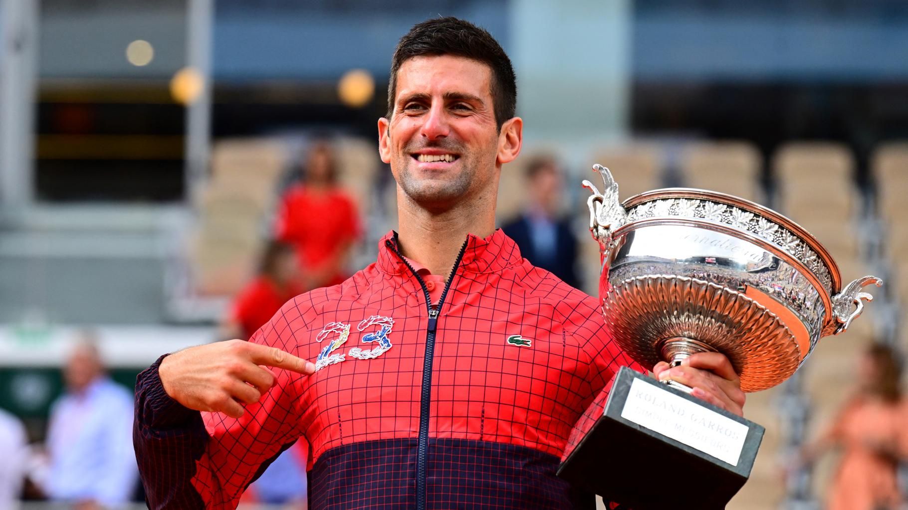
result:
<svg viewBox="0 0 908 510"><path fill-rule="evenodd" d="M350 250L360 229L356 204L338 186L331 146L314 143L301 182L281 199L275 229L278 239L296 248L307 289L335 285L350 276Z"/></svg>

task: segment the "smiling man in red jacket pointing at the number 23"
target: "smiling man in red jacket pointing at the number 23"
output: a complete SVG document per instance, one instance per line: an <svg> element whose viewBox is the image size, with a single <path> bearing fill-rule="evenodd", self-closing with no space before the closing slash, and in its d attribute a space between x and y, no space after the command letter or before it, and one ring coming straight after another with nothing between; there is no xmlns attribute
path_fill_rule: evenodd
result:
<svg viewBox="0 0 908 510"><path fill-rule="evenodd" d="M315 510L594 505L555 470L577 418L634 364L597 299L495 230L498 174L520 152L516 98L484 30L441 18L400 39L378 123L400 232L252 341L187 348L143 372L134 440L153 508L231 508L298 438ZM656 370L740 413L728 361L689 360Z"/></svg>

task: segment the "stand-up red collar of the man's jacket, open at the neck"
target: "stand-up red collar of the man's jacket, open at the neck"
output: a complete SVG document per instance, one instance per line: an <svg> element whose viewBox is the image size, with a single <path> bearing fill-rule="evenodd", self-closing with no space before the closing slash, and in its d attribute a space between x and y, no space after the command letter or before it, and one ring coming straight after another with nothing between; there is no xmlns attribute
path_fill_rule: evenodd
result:
<svg viewBox="0 0 908 510"><path fill-rule="evenodd" d="M485 239L468 234L466 242L467 246L464 248L463 257L460 258L458 270L475 273L497 272L515 266L523 260L517 243L501 229L496 229ZM379 241L380 270L391 274L408 271L397 250L397 232L391 230Z"/></svg>

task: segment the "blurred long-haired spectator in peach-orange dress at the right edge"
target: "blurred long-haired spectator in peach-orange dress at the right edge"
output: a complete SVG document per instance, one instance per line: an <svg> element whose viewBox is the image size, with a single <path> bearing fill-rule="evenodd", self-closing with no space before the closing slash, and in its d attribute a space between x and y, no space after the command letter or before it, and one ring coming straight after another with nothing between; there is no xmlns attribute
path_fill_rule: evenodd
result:
<svg viewBox="0 0 908 510"><path fill-rule="evenodd" d="M880 344L868 348L858 367L856 394L824 435L804 447L803 462L832 446L844 450L830 486L829 510L901 508L897 471L908 456L908 407L899 387L901 374L892 348Z"/></svg>

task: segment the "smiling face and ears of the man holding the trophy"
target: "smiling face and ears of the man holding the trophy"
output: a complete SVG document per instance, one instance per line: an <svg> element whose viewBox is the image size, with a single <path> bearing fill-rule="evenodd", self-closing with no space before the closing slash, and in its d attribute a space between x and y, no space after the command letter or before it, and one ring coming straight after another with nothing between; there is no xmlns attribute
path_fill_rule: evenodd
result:
<svg viewBox="0 0 908 510"><path fill-rule="evenodd" d="M511 119L498 132L491 80L488 65L459 56L400 66L393 115L379 121L380 153L411 201L445 211L496 189L496 168L517 156L521 126Z"/></svg>

